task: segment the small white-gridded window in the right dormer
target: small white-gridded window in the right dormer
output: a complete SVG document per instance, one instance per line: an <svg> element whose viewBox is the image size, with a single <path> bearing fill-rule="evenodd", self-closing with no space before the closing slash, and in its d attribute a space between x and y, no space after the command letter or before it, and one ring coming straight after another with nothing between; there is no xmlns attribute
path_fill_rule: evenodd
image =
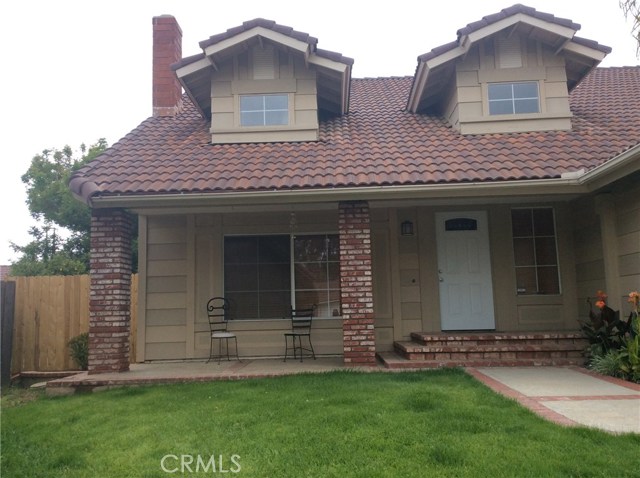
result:
<svg viewBox="0 0 640 478"><path fill-rule="evenodd" d="M490 83L490 115L513 115L540 112L538 82Z"/></svg>

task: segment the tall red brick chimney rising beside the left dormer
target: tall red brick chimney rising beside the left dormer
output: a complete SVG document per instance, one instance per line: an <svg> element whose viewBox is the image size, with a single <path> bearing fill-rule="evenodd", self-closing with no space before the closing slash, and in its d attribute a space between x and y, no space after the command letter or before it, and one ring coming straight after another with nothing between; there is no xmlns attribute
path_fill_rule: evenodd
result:
<svg viewBox="0 0 640 478"><path fill-rule="evenodd" d="M182 59L182 30L172 15L153 17L153 116L174 116L182 85L171 65Z"/></svg>

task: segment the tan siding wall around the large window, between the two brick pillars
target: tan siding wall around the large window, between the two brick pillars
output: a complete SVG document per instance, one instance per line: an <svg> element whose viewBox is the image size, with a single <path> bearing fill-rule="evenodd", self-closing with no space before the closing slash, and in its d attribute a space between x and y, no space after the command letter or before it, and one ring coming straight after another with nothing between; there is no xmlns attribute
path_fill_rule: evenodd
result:
<svg viewBox="0 0 640 478"><path fill-rule="evenodd" d="M139 336L139 343L144 344L146 350L139 353L138 361L208 357L205 304L224 291L224 236L289 234L290 220L289 212L144 218L141 224L146 226L141 226L140 234L140 290L145 303L141 304L140 328L146 336ZM295 231L337 233L337 224L335 209L300 212ZM229 330L238 333L241 356L281 356L283 334L290 330L290 322L235 320L230 322ZM342 354L341 318L316 319L313 330L316 354Z"/></svg>

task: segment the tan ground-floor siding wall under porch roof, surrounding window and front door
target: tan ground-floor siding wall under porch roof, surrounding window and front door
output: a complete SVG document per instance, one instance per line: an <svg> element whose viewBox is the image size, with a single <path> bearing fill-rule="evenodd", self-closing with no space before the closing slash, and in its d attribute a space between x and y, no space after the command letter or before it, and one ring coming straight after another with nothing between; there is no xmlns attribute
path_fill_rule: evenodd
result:
<svg viewBox="0 0 640 478"><path fill-rule="evenodd" d="M371 249L375 348L393 349L394 340L407 340L411 332L439 332L439 280L435 215L441 211L485 210L488 213L496 330L576 330L584 297L602 277L602 255L594 214L594 199L576 203L518 203L518 207L553 207L560 261L561 294L522 296L516 293L511 237L510 204L460 207L372 207ZM616 196L619 204L618 244L621 280L638 280L640 221L633 219L640 206L633 193ZM336 205L337 206L337 205ZM635 209L634 209L635 208ZM634 212L635 211L635 212ZM629 219L632 217L632 219ZM400 224L414 224L413 236L402 236ZM223 240L225 235L289 234L291 213L234 212L188 216L149 216L144 226L147 244L141 253L141 290L146 305L146 352L142 359L203 358L209 352L204 304L222 295ZM597 223L597 221L596 221ZM338 211L299 210L297 233L338 233ZM141 228L141 233L142 233ZM143 241L141 234L141 243ZM143 274L142 263L146 267ZM624 263L624 265L622 265ZM146 278L143 278L146 275ZM146 286L143 285L146 281ZM577 284L577 285L576 285ZM201 305L201 306L199 306ZM141 313L142 315L142 313ZM142 323L142 321L141 321ZM141 326L142 327L142 326ZM342 318L314 322L314 347L320 355L343 354ZM243 356L281 356L286 320L236 320L229 328L239 334ZM140 356L139 356L140 359Z"/></svg>

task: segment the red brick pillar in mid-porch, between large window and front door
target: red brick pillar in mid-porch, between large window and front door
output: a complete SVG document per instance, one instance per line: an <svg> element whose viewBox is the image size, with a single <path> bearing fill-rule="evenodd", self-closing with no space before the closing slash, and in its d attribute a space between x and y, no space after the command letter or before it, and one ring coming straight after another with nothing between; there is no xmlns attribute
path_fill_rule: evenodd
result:
<svg viewBox="0 0 640 478"><path fill-rule="evenodd" d="M375 366L371 220L368 203L341 202L338 228L344 364Z"/></svg>

